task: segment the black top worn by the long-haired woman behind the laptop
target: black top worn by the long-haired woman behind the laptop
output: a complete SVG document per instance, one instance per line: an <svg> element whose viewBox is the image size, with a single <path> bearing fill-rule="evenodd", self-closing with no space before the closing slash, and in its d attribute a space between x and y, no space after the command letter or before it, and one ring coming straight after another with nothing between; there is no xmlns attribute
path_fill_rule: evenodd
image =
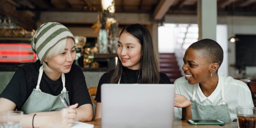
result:
<svg viewBox="0 0 256 128"><path fill-rule="evenodd" d="M110 83L110 79L113 73L114 73L114 70L104 73L101 76L101 79L99 80L99 84L97 88L97 94L95 97L95 100L97 102L101 102L101 85ZM131 70L125 67L124 74L125 74L124 77L121 77L120 84L137 84L138 83L139 70ZM160 75L159 84L171 84L171 80L166 74L159 73L159 75Z"/></svg>

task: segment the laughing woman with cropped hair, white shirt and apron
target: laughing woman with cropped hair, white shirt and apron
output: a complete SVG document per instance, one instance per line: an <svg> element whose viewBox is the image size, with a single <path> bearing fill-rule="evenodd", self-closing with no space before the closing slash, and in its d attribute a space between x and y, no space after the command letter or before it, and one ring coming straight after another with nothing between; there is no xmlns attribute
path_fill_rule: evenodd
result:
<svg viewBox="0 0 256 128"><path fill-rule="evenodd" d="M254 106L248 86L218 74L223 50L214 40L203 39L189 46L184 55L184 77L175 80L176 93L191 100L192 119L236 119L236 106ZM180 119L181 109L175 108Z"/></svg>

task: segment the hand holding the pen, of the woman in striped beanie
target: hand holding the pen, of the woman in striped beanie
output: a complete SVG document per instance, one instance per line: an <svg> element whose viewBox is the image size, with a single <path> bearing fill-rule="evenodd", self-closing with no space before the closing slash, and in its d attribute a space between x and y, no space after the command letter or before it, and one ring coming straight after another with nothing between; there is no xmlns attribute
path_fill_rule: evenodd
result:
<svg viewBox="0 0 256 128"><path fill-rule="evenodd" d="M54 127L69 128L72 127L76 118L76 110L78 104L69 106L69 108L63 108L53 116Z"/></svg>

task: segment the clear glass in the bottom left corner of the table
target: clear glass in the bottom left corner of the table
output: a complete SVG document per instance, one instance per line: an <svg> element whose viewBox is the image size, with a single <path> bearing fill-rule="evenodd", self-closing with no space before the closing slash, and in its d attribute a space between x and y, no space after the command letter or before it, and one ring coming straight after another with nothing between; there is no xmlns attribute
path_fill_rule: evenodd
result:
<svg viewBox="0 0 256 128"><path fill-rule="evenodd" d="M22 111L0 113L0 128L21 128L22 116Z"/></svg>

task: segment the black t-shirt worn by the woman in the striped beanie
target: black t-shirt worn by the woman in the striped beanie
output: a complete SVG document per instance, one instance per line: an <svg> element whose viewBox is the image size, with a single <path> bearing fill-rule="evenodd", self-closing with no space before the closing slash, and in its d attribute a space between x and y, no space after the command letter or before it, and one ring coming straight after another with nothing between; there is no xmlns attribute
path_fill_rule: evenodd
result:
<svg viewBox="0 0 256 128"><path fill-rule="evenodd" d="M20 110L33 89L36 88L41 65L38 60L35 63L20 66L0 97L11 100L16 104L15 109ZM54 81L45 73L43 73L39 85L42 92L54 96L61 94L63 89L61 77ZM76 103L78 106L92 104L83 71L79 66L72 64L70 72L65 73L65 88L68 91L71 105Z"/></svg>

